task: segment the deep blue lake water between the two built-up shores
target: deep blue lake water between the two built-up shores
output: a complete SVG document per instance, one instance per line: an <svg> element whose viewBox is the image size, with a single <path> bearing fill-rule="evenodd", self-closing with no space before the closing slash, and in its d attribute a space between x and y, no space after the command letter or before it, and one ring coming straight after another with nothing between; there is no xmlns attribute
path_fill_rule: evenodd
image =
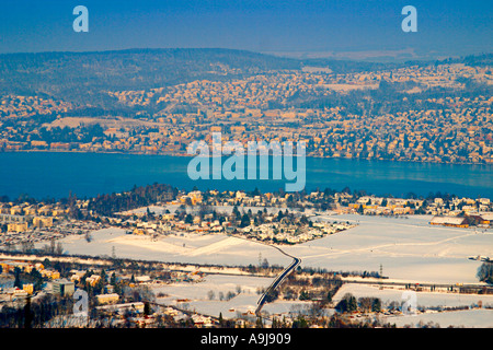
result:
<svg viewBox="0 0 493 350"><path fill-rule="evenodd" d="M65 152L0 153L0 196L79 198L130 189L134 185L170 184L182 189L274 191L284 180L192 180L190 158ZM331 187L365 189L395 197L429 191L493 198L493 165L459 165L347 159L307 159L306 190Z"/></svg>

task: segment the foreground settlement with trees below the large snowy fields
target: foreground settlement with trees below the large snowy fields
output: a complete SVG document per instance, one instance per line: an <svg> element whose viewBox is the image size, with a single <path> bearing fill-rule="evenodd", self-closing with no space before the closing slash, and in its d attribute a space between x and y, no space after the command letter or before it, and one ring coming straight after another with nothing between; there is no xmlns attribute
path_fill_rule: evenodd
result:
<svg viewBox="0 0 493 350"><path fill-rule="evenodd" d="M442 289L442 293L493 293L485 287L471 290L462 285L392 285L386 283L378 272L355 275L331 272L325 270L300 269L290 276L279 290L270 294L270 302L298 301L305 306L291 307L289 312L268 314L262 317L253 308L238 311L234 306L226 307L225 313L208 315L197 312L192 305L196 299L172 296L162 292L162 288L190 284L202 287L210 276L225 275L245 278L248 276L274 277L280 271L275 266L218 267L173 265L157 261L135 261L126 259L91 259L72 257L30 256L0 259L0 326L14 327L20 315L18 307L30 305L35 312L32 320L35 327L43 328L320 328L326 326L391 327L381 323L380 317L403 315L397 302L383 302L378 298L359 298L344 294L333 301L334 295L344 283L360 281L368 285L379 285L387 290L425 291ZM88 313L74 314L76 291L88 295ZM256 298L264 292L256 291ZM80 292L79 292L80 293ZM246 288L238 284L234 291L219 295L217 303L228 305L238 295L250 294ZM220 293L222 294L222 292ZM254 294L254 295L255 295ZM207 292L205 301L215 300L213 291ZM44 306L41 306L44 305ZM232 304L233 305L233 304ZM41 307L41 308L39 308ZM43 308L44 307L44 308ZM460 310L491 308L492 305L471 304L469 306L420 307L417 314L447 313ZM335 314L326 314L335 310ZM22 316L21 316L22 318Z"/></svg>

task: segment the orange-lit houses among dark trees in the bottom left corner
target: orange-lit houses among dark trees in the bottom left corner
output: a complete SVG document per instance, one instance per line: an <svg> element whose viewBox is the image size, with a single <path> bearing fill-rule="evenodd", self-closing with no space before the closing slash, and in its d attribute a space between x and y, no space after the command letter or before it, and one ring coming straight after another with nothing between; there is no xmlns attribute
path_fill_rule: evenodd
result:
<svg viewBox="0 0 493 350"><path fill-rule="evenodd" d="M71 261L80 260L74 258ZM101 262L103 268L99 265ZM118 264L122 265L118 266ZM129 264L129 268L125 268L123 266L125 264ZM45 315L49 322L42 326L47 328L91 327L96 319L103 318L105 326L110 327L213 326L211 317L186 311L186 306L182 312L179 307L159 306L153 303L151 312L149 305L149 301L156 299L152 293L153 288L179 282L197 283L205 273L198 269L171 270L165 265L152 269L148 265L142 265L149 268L148 273L142 273L141 269L135 268L136 265L136 262L121 260L116 264L99 260L88 265L64 264L56 258L51 260L45 258L43 262L2 259L0 260L0 308L8 314L5 308L22 305L27 299L33 304L43 304L47 301L51 304L69 303L70 312L66 315L59 317ZM69 266L80 268L68 269ZM85 318L73 316L71 312L72 296L78 289L87 291L89 295L92 312ZM57 307L60 308L57 314L65 311L62 305Z"/></svg>

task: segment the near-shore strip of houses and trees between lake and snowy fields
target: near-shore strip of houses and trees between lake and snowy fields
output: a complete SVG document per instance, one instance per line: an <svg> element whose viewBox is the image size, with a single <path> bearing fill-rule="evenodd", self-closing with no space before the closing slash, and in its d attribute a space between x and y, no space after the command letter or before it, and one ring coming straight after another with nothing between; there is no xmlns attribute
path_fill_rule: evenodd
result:
<svg viewBox="0 0 493 350"><path fill-rule="evenodd" d="M349 189L301 194L254 191L177 191L149 206L102 214L88 209L91 199L70 202L0 202L0 245L23 246L84 234L106 226L130 234L167 235L180 232L241 235L255 241L296 244L352 228L346 222L321 222L323 214L363 214L405 218L432 215L431 224L488 229L493 220L489 198L459 198L432 194L428 198L392 198ZM152 210L150 210L151 208Z"/></svg>

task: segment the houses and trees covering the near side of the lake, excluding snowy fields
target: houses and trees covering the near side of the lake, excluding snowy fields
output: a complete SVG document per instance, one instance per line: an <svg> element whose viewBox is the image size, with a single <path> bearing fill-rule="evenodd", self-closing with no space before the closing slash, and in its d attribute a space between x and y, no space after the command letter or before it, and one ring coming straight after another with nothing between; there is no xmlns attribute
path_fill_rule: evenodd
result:
<svg viewBox="0 0 493 350"><path fill-rule="evenodd" d="M134 188L130 192L149 192L158 185ZM128 192L128 194L130 194ZM191 191L170 189L156 191L147 206L110 212L117 208L112 200L126 192L96 199L77 199L58 202L9 201L0 203L2 233L0 234L0 305L3 315L18 310L27 300L32 305L49 303L55 314L38 316L43 327L298 327L300 323L310 327L326 327L332 324L358 324L375 317L402 315L395 304L383 305L378 299L362 299L348 308L351 298L332 303L332 298L347 280L365 278L367 283L422 291L424 288L445 293L491 293L477 285L411 285L385 284L381 272L354 271L351 273L297 270L283 285L270 291L267 299L274 301L308 301L307 310L297 310L282 315L261 318L255 310L238 311L229 307L225 315L208 315L196 312L193 299L169 296L162 291L167 285L202 283L211 276L257 276L275 278L282 268L270 266L259 257L257 266L214 267L179 266L164 262L145 262L112 256L84 258L68 256L60 240L70 235L92 241L91 233L104 228L124 230L127 235L148 237L150 242L167 236L225 235L267 245L294 245L319 240L334 233L344 234L357 223L334 220L337 215L380 215L410 218L428 215L431 225L454 226L462 230L488 230L493 219L492 202L488 198L458 198L450 195L427 198L378 197L364 191L335 191L325 189L298 194L262 194L254 191ZM144 195L142 195L144 196ZM101 198L100 198L101 199ZM125 209L122 207L121 209ZM319 220L330 215L333 220ZM489 257L469 257L472 260L490 261ZM484 264L486 264L484 262ZM213 273L213 275L210 275ZM317 278L314 278L317 277ZM325 281L325 282L323 282ZM383 283L383 284L382 284ZM83 290L90 300L90 315L85 318L71 314L73 293ZM204 291L205 293L205 291ZM255 293L260 298L265 289L237 285L236 290L220 292L215 296L210 290L208 300L228 302L238 295ZM252 294L252 295L255 295ZM171 298L171 299L170 299ZM341 304L343 303L343 304ZM345 303L345 304L344 304ZM369 303L369 304L368 304ZM70 307L68 306L70 305ZM344 306L345 305L345 306ZM360 306L357 306L360 305ZM365 306L366 305L366 306ZM369 306L368 306L369 305ZM486 305L488 306L488 305ZM37 306L36 306L37 307ZM339 307L341 313L323 316L326 307ZM472 306L471 306L472 307ZM479 307L480 306L474 306ZM359 310L360 308L360 310ZM455 307L444 308L456 311ZM423 308L422 313L435 312ZM46 312L49 313L49 312ZM43 314L43 313L42 313ZM314 315L310 318L309 315ZM265 315L264 315L265 316ZM45 317L45 318L44 318ZM335 318L334 318L335 317ZM14 319L15 317L13 317ZM310 320L311 319L311 320ZM1 320L8 322L8 320ZM39 324L41 323L41 324Z"/></svg>

